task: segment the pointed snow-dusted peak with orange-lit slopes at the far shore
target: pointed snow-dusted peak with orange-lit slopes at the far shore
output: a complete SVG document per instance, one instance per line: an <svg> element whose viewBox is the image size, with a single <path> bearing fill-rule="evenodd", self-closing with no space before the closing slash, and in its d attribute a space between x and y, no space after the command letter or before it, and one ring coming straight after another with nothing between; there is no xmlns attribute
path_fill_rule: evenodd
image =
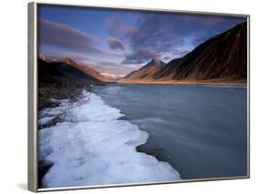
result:
<svg viewBox="0 0 256 194"><path fill-rule="evenodd" d="M160 69L165 66L166 63L159 59L152 59L146 66L142 66L136 71L131 72L122 80L148 80L152 79L155 74L158 74Z"/></svg>

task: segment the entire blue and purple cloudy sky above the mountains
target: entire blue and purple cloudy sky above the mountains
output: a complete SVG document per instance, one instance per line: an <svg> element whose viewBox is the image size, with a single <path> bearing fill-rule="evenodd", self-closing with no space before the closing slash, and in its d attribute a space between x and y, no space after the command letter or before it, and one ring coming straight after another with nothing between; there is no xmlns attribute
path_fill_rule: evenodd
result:
<svg viewBox="0 0 256 194"><path fill-rule="evenodd" d="M126 75L152 58L181 57L243 17L39 5L38 50L100 73Z"/></svg>

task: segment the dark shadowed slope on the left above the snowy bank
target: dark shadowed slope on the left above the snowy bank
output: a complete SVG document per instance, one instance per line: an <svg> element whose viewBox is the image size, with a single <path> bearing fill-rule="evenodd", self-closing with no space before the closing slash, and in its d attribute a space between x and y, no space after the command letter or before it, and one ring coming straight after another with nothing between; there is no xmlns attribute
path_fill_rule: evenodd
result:
<svg viewBox="0 0 256 194"><path fill-rule="evenodd" d="M52 98L76 100L83 89L89 89L91 84L103 85L103 82L65 61L38 58L39 110L44 107L55 107L56 103Z"/></svg>

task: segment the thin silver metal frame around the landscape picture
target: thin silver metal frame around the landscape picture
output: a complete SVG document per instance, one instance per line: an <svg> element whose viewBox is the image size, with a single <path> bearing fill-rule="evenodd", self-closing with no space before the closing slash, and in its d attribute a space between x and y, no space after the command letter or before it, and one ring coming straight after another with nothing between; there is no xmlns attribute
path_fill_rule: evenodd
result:
<svg viewBox="0 0 256 194"><path fill-rule="evenodd" d="M209 179L181 179L176 181L163 182L148 182L148 183L127 183L99 186L79 186L65 188L38 188L38 158L37 158L37 7L38 5L67 5L67 6L83 6L91 8L103 8L114 10L137 10L151 12L168 12L176 14L197 14L197 15L220 15L247 18L247 175L238 177L223 177ZM228 180L228 179L250 179L250 15L243 14L227 14L227 13L210 13L198 11L171 10L160 8L146 7L128 7L114 5L74 5L68 3L52 3L46 1L35 1L28 3L28 190L34 192L53 191L53 190L70 190L70 189L97 189L97 188L113 188L113 187L128 187L142 185L159 185L170 183L185 183L196 181L211 181L211 180Z"/></svg>

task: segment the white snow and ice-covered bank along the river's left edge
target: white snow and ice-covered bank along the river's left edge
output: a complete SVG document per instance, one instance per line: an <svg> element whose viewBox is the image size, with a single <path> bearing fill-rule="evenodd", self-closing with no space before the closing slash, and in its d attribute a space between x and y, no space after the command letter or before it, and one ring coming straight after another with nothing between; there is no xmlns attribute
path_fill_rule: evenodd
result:
<svg viewBox="0 0 256 194"><path fill-rule="evenodd" d="M62 100L39 114L39 123L62 115L56 126L39 134L39 159L54 165L44 188L145 183L180 179L169 163L136 151L148 134L126 120L93 93L77 103Z"/></svg>

